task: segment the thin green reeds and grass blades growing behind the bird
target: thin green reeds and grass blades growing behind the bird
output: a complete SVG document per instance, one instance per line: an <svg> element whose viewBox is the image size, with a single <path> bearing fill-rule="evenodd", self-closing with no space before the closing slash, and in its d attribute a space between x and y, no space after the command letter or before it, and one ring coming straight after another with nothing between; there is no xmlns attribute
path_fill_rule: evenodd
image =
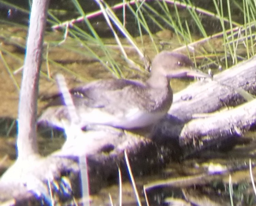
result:
<svg viewBox="0 0 256 206"><path fill-rule="evenodd" d="M6 1L0 2L6 7L15 7L22 14L29 12L29 8L24 9L20 5ZM51 71L53 67L62 69L81 81L86 81L85 75L78 73L74 68L71 69L65 61L48 55L47 52L54 47L61 48L63 52L76 53L81 59L90 57L117 78L127 77L130 68L142 71L143 67L147 66L147 64L143 65L142 58L152 50L155 52L162 49L187 51L195 58L197 64L199 63L199 67L207 69L227 68L242 59L250 58L255 53L253 43L255 2L253 0L242 2L212 0L208 1L207 8L199 7L190 0L130 1L114 5L95 1L95 8L98 6L98 10L92 11L88 11L88 8L81 5L78 0L71 2L72 4L68 3L70 8L66 10L63 8L58 10L52 5L48 12L49 29L58 28L59 31L58 33L48 31L47 36L50 37L45 40L48 46L44 58L48 70L42 69L42 73L49 78L54 74L53 70ZM69 10L72 11L72 17L75 19L70 19ZM100 15L103 17L99 17ZM64 18L65 21L61 20ZM14 26L13 22L7 18L1 22ZM24 29L22 24L16 23L15 27ZM100 32L99 29L101 29ZM156 35L163 30L170 30L175 36L174 40ZM66 33L65 37L62 36L64 33ZM145 38L145 35L149 38ZM24 44L13 42L12 36L5 32L1 38L4 42L25 48ZM110 39L111 36L115 40ZM180 47L183 45L186 46ZM12 54L2 47L0 49L6 55L12 55L12 58L20 61L19 55ZM131 55L127 54L128 49L133 51ZM3 61L4 58L3 56ZM71 59L67 62L70 61ZM10 67L13 68L12 65L5 64L10 78L17 85Z"/></svg>

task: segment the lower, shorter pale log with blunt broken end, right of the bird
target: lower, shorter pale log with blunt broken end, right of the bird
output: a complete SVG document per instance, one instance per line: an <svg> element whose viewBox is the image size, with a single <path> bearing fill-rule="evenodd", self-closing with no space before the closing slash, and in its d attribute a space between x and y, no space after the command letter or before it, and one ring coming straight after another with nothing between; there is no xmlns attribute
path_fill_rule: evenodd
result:
<svg viewBox="0 0 256 206"><path fill-rule="evenodd" d="M233 148L236 138L256 123L256 100L189 121L179 135L181 145L194 145L196 150L210 146ZM195 151L194 151L195 152Z"/></svg>

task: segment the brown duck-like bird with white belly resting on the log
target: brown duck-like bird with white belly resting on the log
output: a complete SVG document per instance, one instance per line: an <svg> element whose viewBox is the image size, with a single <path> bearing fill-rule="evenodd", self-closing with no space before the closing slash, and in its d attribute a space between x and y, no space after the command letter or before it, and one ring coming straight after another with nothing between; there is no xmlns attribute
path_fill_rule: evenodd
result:
<svg viewBox="0 0 256 206"><path fill-rule="evenodd" d="M191 69L193 62L172 51L157 54L149 78L142 82L128 79L103 79L70 89L78 127L107 125L133 130L155 125L170 109L173 101L171 78L186 76L207 77ZM64 128L69 125L67 105L62 95L56 94L38 118L39 124Z"/></svg>

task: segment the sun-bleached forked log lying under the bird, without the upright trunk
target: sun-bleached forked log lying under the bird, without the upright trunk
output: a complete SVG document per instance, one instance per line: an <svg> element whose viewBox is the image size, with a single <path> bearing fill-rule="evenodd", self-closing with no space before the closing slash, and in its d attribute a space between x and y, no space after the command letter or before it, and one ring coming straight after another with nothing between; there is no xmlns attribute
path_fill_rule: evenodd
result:
<svg viewBox="0 0 256 206"><path fill-rule="evenodd" d="M48 188L48 181L61 184L64 176L70 181L69 198L67 194L56 191L55 195L63 201L81 196L80 157L87 157L90 190L96 192L107 179L117 175L118 166L126 167L124 150L127 150L134 173L142 174L156 166L163 166L177 147L173 145L176 140L179 140L181 148L187 150L189 147L190 153L208 148L204 145L220 147L221 142L227 139L230 143L230 138L240 137L255 124L255 100L245 103L239 90L242 88L255 94L255 78L256 57L253 57L215 75L213 80L191 84L174 95L169 115L159 123L153 139L108 127L82 132L76 141L66 144L62 150L46 158L28 160L27 169L24 165L13 166L13 172L1 178L0 201L12 200L11 203L19 205L35 199L35 194L46 196L47 189L40 189L42 185ZM235 106L234 102L239 106L198 118L198 114L202 116L202 113Z"/></svg>

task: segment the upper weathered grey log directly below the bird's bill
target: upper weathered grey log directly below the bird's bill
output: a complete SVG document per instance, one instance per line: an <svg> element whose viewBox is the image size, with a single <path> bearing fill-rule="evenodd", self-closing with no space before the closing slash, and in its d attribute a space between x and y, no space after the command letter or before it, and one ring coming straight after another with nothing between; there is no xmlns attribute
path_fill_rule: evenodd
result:
<svg viewBox="0 0 256 206"><path fill-rule="evenodd" d="M175 93L168 113L185 122L196 113L236 106L245 102L237 88L256 94L256 56L214 75L213 80L199 81Z"/></svg>

